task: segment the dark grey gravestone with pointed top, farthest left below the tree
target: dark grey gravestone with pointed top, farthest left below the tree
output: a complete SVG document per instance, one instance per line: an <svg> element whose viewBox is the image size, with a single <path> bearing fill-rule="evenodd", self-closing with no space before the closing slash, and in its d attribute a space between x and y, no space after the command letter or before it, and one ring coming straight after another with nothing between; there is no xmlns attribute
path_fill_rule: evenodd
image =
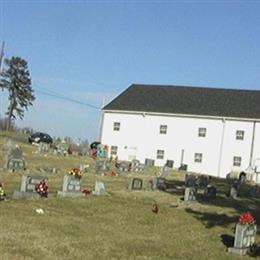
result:
<svg viewBox="0 0 260 260"><path fill-rule="evenodd" d="M15 148L11 149L7 154L5 167L6 169L11 171L26 169L23 152L18 145Z"/></svg>

